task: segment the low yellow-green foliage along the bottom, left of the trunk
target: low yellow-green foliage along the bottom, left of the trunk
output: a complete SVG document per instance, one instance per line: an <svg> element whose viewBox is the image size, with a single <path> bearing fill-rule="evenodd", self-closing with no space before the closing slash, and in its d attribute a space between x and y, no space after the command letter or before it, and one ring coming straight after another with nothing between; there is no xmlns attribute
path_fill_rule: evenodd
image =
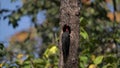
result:
<svg viewBox="0 0 120 68"><path fill-rule="evenodd" d="M57 68L58 67L58 49L56 45L49 45L44 55L41 58L33 59L33 57L28 54L17 54L15 61L11 63L5 63L4 61L0 64L0 67L20 67L20 68ZM7 62L7 61L6 61Z"/></svg>

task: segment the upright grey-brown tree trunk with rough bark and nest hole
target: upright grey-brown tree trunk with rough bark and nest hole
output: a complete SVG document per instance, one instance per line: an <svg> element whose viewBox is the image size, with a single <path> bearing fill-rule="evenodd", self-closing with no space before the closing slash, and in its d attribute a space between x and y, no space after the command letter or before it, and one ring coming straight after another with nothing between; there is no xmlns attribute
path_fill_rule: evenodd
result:
<svg viewBox="0 0 120 68"><path fill-rule="evenodd" d="M59 58L59 68L78 68L78 47L80 40L80 0L60 0L60 58ZM63 63L63 53L62 53L62 28L67 24L71 28L70 33L70 49L69 56L66 63Z"/></svg>

